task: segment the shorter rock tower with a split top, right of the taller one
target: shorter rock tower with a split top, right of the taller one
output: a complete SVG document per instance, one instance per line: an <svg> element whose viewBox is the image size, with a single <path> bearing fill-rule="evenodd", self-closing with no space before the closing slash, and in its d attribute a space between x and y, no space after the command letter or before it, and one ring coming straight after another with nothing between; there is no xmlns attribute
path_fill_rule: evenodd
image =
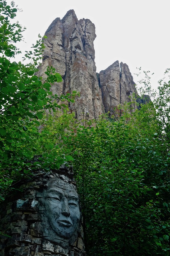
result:
<svg viewBox="0 0 170 256"><path fill-rule="evenodd" d="M120 112L117 108L118 105L132 101L132 94L137 96L135 83L128 65L122 62L119 65L118 60L100 72L99 84L105 112L109 111L110 115L118 115ZM133 111L135 108L135 104L132 104Z"/></svg>

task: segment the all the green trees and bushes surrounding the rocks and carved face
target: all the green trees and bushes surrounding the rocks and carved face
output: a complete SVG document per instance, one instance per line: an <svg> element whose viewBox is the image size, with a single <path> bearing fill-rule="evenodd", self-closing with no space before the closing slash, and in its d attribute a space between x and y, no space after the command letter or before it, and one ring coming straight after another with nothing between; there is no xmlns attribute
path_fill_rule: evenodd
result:
<svg viewBox="0 0 170 256"><path fill-rule="evenodd" d="M45 81L34 75L41 39L26 52L29 64L10 61L22 28L11 25L14 4L0 0L0 9L0 199L25 175L73 161L89 256L170 255L170 82L160 81L156 97L145 72L153 103L82 126L74 114L56 111L76 95L51 94L61 76L52 67ZM41 161L32 162L34 155Z"/></svg>

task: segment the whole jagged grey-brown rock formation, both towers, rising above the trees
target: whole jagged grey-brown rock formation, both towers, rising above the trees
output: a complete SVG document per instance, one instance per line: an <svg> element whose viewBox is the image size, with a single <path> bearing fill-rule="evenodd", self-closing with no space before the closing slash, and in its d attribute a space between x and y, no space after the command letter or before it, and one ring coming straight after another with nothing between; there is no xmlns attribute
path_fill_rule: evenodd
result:
<svg viewBox="0 0 170 256"><path fill-rule="evenodd" d="M45 35L38 75L43 76L47 66L53 66L63 78L62 83L52 85L54 94L80 92L75 103L69 105L77 119L97 119L108 111L110 115L118 115L117 106L131 101L129 96L133 93L137 95L128 66L122 62L119 66L116 61L101 71L98 81L93 45L95 25L90 20L78 20L74 10L70 10L63 19L56 18Z"/></svg>

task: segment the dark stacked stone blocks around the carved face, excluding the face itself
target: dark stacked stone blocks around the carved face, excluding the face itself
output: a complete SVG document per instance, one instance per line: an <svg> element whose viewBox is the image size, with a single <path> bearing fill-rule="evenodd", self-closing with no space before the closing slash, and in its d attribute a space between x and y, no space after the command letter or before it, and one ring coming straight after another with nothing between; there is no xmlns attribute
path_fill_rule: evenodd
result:
<svg viewBox="0 0 170 256"><path fill-rule="evenodd" d="M85 256L81 214L74 239L58 238L53 230L49 237L44 235L44 227L49 225L44 223L40 195L49 180L56 178L76 190L72 170L62 166L58 171L41 171L29 182L25 180L1 204L0 231L4 234L0 236L1 256Z"/></svg>

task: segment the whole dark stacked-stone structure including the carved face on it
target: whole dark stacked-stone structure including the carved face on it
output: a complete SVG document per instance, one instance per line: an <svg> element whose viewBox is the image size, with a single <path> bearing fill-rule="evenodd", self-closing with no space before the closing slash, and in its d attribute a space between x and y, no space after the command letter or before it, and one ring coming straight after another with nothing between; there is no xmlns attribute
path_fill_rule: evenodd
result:
<svg viewBox="0 0 170 256"><path fill-rule="evenodd" d="M78 195L72 170L62 166L50 173L42 171L19 189L1 205L0 231L8 237L0 236L0 255L84 256L81 207L74 202ZM62 200L69 209L64 213L53 190L66 193Z"/></svg>

